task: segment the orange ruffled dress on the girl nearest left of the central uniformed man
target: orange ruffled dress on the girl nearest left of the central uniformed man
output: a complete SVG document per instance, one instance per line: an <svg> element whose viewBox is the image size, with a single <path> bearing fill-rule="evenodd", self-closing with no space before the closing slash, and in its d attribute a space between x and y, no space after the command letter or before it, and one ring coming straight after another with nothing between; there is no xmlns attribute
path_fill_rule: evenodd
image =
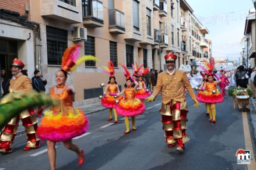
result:
<svg viewBox="0 0 256 170"><path fill-rule="evenodd" d="M141 100L135 98L133 87L126 87L124 89L124 99L117 104L116 110L120 116L137 116L143 113L145 105Z"/></svg>

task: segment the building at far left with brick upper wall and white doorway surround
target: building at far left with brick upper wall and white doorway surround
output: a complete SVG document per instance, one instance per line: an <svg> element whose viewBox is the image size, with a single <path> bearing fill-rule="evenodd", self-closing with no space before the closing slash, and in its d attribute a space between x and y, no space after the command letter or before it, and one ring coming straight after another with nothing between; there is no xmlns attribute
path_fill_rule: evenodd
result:
<svg viewBox="0 0 256 170"><path fill-rule="evenodd" d="M30 0L0 1L0 67L6 69L6 78L11 77L10 66L18 56L25 64L25 74L34 71L38 27L31 22Z"/></svg>

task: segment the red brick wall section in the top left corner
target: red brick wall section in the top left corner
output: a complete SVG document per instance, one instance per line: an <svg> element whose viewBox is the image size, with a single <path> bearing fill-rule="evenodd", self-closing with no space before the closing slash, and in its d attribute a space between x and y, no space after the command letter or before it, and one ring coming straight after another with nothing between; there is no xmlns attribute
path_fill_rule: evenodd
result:
<svg viewBox="0 0 256 170"><path fill-rule="evenodd" d="M19 12L20 15L25 15L25 3L28 3L30 11L30 0L1 0L0 9L7 9L13 12ZM31 21L30 12L28 13L28 21Z"/></svg>

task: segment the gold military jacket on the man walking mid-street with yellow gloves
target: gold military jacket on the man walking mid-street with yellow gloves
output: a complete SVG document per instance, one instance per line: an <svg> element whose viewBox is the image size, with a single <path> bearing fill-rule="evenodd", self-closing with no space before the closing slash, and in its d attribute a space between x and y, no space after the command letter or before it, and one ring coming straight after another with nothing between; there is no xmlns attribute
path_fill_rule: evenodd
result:
<svg viewBox="0 0 256 170"><path fill-rule="evenodd" d="M157 76L157 86L152 96L156 98L161 92L163 104L169 103L172 99L183 102L185 101L184 88L188 90L188 94L193 100L196 99L194 90L185 72L175 70L174 74L170 75L167 71L164 71Z"/></svg>

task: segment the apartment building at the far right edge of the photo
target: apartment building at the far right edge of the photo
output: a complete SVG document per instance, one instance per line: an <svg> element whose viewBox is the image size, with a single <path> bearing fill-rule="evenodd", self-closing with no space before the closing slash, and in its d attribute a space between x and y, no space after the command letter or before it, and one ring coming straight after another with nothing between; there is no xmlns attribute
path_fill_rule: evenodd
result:
<svg viewBox="0 0 256 170"><path fill-rule="evenodd" d="M248 60L248 67L254 68L256 66L256 42L255 42L255 9L252 8L249 10L249 14L245 20L245 27L244 27L244 37L241 39L241 58L242 63L247 66ZM248 57L247 57L248 54Z"/></svg>

